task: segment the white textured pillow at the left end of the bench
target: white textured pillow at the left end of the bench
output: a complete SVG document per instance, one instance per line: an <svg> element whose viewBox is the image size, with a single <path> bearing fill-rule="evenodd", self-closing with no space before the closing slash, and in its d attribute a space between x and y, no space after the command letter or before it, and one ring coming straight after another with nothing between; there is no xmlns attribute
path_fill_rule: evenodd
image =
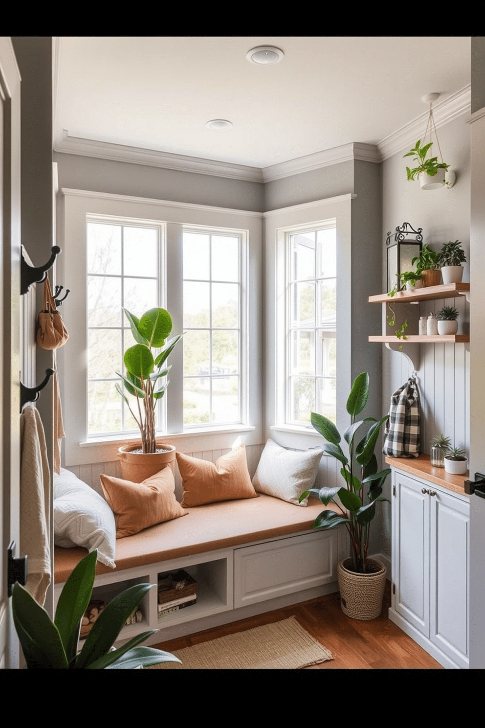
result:
<svg viewBox="0 0 485 728"><path fill-rule="evenodd" d="M105 499L61 467L54 475L54 543L97 549L98 561L114 569L116 525Z"/></svg>

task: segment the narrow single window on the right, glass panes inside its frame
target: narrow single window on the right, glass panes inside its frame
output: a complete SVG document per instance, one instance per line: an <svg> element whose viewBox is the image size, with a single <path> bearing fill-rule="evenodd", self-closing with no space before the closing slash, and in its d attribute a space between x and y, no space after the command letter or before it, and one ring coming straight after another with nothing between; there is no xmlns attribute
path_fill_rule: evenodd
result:
<svg viewBox="0 0 485 728"><path fill-rule="evenodd" d="M312 411L335 422L335 221L287 232L286 251L286 422L308 424Z"/></svg>

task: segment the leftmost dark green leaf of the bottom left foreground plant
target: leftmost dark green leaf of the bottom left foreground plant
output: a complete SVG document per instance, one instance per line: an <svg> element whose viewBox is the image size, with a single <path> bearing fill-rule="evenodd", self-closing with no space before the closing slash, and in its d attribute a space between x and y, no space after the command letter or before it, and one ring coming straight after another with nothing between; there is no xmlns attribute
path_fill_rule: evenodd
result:
<svg viewBox="0 0 485 728"><path fill-rule="evenodd" d="M18 582L12 590L12 616L28 668L67 669L59 630L46 610Z"/></svg>

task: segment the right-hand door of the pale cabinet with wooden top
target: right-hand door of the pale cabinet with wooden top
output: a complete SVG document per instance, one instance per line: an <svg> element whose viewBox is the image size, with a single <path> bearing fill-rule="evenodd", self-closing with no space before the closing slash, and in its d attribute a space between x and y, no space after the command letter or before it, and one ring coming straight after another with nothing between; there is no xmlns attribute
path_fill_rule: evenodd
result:
<svg viewBox="0 0 485 728"><path fill-rule="evenodd" d="M430 496L430 638L468 667L470 505L437 491Z"/></svg>

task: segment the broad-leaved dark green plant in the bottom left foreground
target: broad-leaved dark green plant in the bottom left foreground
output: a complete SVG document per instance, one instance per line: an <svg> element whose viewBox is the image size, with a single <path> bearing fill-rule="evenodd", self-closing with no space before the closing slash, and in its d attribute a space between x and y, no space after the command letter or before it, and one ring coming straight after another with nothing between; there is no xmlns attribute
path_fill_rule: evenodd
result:
<svg viewBox="0 0 485 728"><path fill-rule="evenodd" d="M12 590L12 614L28 668L123 669L180 662L178 657L154 647L138 647L159 630L148 630L111 649L127 619L154 584L137 584L113 598L97 617L79 649L79 632L95 583L97 552L84 556L60 593L54 622L18 582Z"/></svg>

